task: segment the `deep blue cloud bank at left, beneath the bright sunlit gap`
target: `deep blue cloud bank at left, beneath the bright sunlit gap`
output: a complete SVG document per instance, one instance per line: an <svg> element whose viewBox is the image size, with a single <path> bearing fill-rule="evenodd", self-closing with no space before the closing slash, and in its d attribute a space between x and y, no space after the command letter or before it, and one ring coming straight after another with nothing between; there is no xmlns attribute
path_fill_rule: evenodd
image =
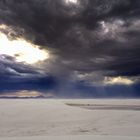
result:
<svg viewBox="0 0 140 140"><path fill-rule="evenodd" d="M16 90L48 91L55 87L53 76L41 69L17 63L12 57L0 56L0 92Z"/></svg>

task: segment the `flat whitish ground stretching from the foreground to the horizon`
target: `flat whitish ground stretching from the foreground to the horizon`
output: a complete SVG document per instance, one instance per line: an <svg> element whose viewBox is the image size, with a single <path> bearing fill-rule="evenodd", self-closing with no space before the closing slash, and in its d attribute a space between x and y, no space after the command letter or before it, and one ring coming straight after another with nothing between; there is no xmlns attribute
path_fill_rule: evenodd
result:
<svg viewBox="0 0 140 140"><path fill-rule="evenodd" d="M140 106L134 99L0 99L0 140L140 140L140 111L66 103Z"/></svg>

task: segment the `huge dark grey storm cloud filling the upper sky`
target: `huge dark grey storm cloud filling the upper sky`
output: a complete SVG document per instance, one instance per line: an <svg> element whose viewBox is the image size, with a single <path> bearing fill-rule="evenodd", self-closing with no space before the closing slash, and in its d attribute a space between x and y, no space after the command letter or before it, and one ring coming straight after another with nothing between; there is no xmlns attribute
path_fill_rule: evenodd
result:
<svg viewBox="0 0 140 140"><path fill-rule="evenodd" d="M94 83L105 76L139 76L139 15L139 0L0 1L0 23L11 26L16 36L48 49L54 58L46 67L60 83L91 73ZM38 75L17 64L4 75L24 70Z"/></svg>

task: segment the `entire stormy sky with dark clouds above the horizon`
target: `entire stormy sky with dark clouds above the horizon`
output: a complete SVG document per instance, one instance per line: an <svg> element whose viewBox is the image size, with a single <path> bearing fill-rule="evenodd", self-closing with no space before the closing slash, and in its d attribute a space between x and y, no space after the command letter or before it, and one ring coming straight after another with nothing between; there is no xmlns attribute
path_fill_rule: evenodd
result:
<svg viewBox="0 0 140 140"><path fill-rule="evenodd" d="M140 0L0 0L0 97L140 97Z"/></svg>

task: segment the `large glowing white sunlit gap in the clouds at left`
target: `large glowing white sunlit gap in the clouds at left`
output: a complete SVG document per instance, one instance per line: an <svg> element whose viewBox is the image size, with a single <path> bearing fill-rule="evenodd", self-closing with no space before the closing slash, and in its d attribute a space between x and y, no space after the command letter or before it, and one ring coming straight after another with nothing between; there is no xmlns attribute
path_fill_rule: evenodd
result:
<svg viewBox="0 0 140 140"><path fill-rule="evenodd" d="M0 25L0 29L6 29L5 25ZM34 64L49 58L49 52L40 49L22 38L9 40L6 34L0 32L0 54L14 57L17 62Z"/></svg>

